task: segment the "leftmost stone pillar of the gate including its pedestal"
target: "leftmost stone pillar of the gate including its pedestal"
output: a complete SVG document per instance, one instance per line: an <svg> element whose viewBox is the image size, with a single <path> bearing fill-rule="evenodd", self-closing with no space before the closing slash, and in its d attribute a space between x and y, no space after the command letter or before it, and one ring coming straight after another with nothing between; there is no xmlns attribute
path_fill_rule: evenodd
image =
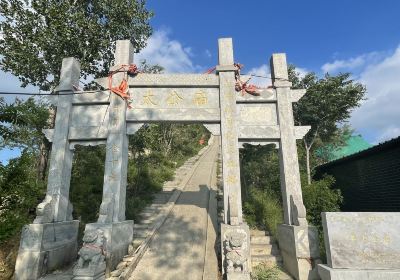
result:
<svg viewBox="0 0 400 280"><path fill-rule="evenodd" d="M73 93L79 83L79 62L63 59L58 93ZM63 267L76 258L78 221L72 220L69 187L73 152L69 149L68 132L72 95L54 96L57 114L54 127L47 193L37 207L33 224L22 230L15 266L15 279L37 279L49 270Z"/></svg>

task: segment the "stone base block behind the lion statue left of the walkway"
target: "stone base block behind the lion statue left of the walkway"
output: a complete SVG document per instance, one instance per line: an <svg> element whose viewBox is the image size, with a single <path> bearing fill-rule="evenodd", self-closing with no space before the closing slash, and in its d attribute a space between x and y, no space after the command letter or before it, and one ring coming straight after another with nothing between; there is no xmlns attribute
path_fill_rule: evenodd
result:
<svg viewBox="0 0 400 280"><path fill-rule="evenodd" d="M128 247L133 239L133 221L87 224L85 231L92 229L102 230L106 238L106 276L108 277L122 258L128 254Z"/></svg>

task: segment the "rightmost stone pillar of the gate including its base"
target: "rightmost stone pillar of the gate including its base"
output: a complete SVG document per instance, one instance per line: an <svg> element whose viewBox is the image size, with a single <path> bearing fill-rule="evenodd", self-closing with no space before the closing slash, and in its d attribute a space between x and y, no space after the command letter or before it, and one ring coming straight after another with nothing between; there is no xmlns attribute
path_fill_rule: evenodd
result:
<svg viewBox="0 0 400 280"><path fill-rule="evenodd" d="M278 241L284 266L298 280L318 279L318 232L308 226L301 192L292 98L285 54L273 54L271 75L277 95L280 128L280 180L284 223L278 226Z"/></svg>

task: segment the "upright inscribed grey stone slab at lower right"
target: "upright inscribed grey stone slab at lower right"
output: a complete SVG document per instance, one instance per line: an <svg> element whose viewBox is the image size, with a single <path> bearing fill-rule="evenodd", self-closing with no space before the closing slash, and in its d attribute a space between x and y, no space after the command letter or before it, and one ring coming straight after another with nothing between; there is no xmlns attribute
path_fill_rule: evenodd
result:
<svg viewBox="0 0 400 280"><path fill-rule="evenodd" d="M323 212L328 266L400 269L400 213Z"/></svg>

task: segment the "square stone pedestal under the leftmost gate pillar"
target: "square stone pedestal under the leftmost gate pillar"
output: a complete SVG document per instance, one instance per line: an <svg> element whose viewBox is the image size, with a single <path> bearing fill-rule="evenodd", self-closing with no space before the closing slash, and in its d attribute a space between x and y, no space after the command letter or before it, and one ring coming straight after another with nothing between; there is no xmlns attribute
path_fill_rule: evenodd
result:
<svg viewBox="0 0 400 280"><path fill-rule="evenodd" d="M15 279L37 279L76 260L79 221L29 224L22 230Z"/></svg>

